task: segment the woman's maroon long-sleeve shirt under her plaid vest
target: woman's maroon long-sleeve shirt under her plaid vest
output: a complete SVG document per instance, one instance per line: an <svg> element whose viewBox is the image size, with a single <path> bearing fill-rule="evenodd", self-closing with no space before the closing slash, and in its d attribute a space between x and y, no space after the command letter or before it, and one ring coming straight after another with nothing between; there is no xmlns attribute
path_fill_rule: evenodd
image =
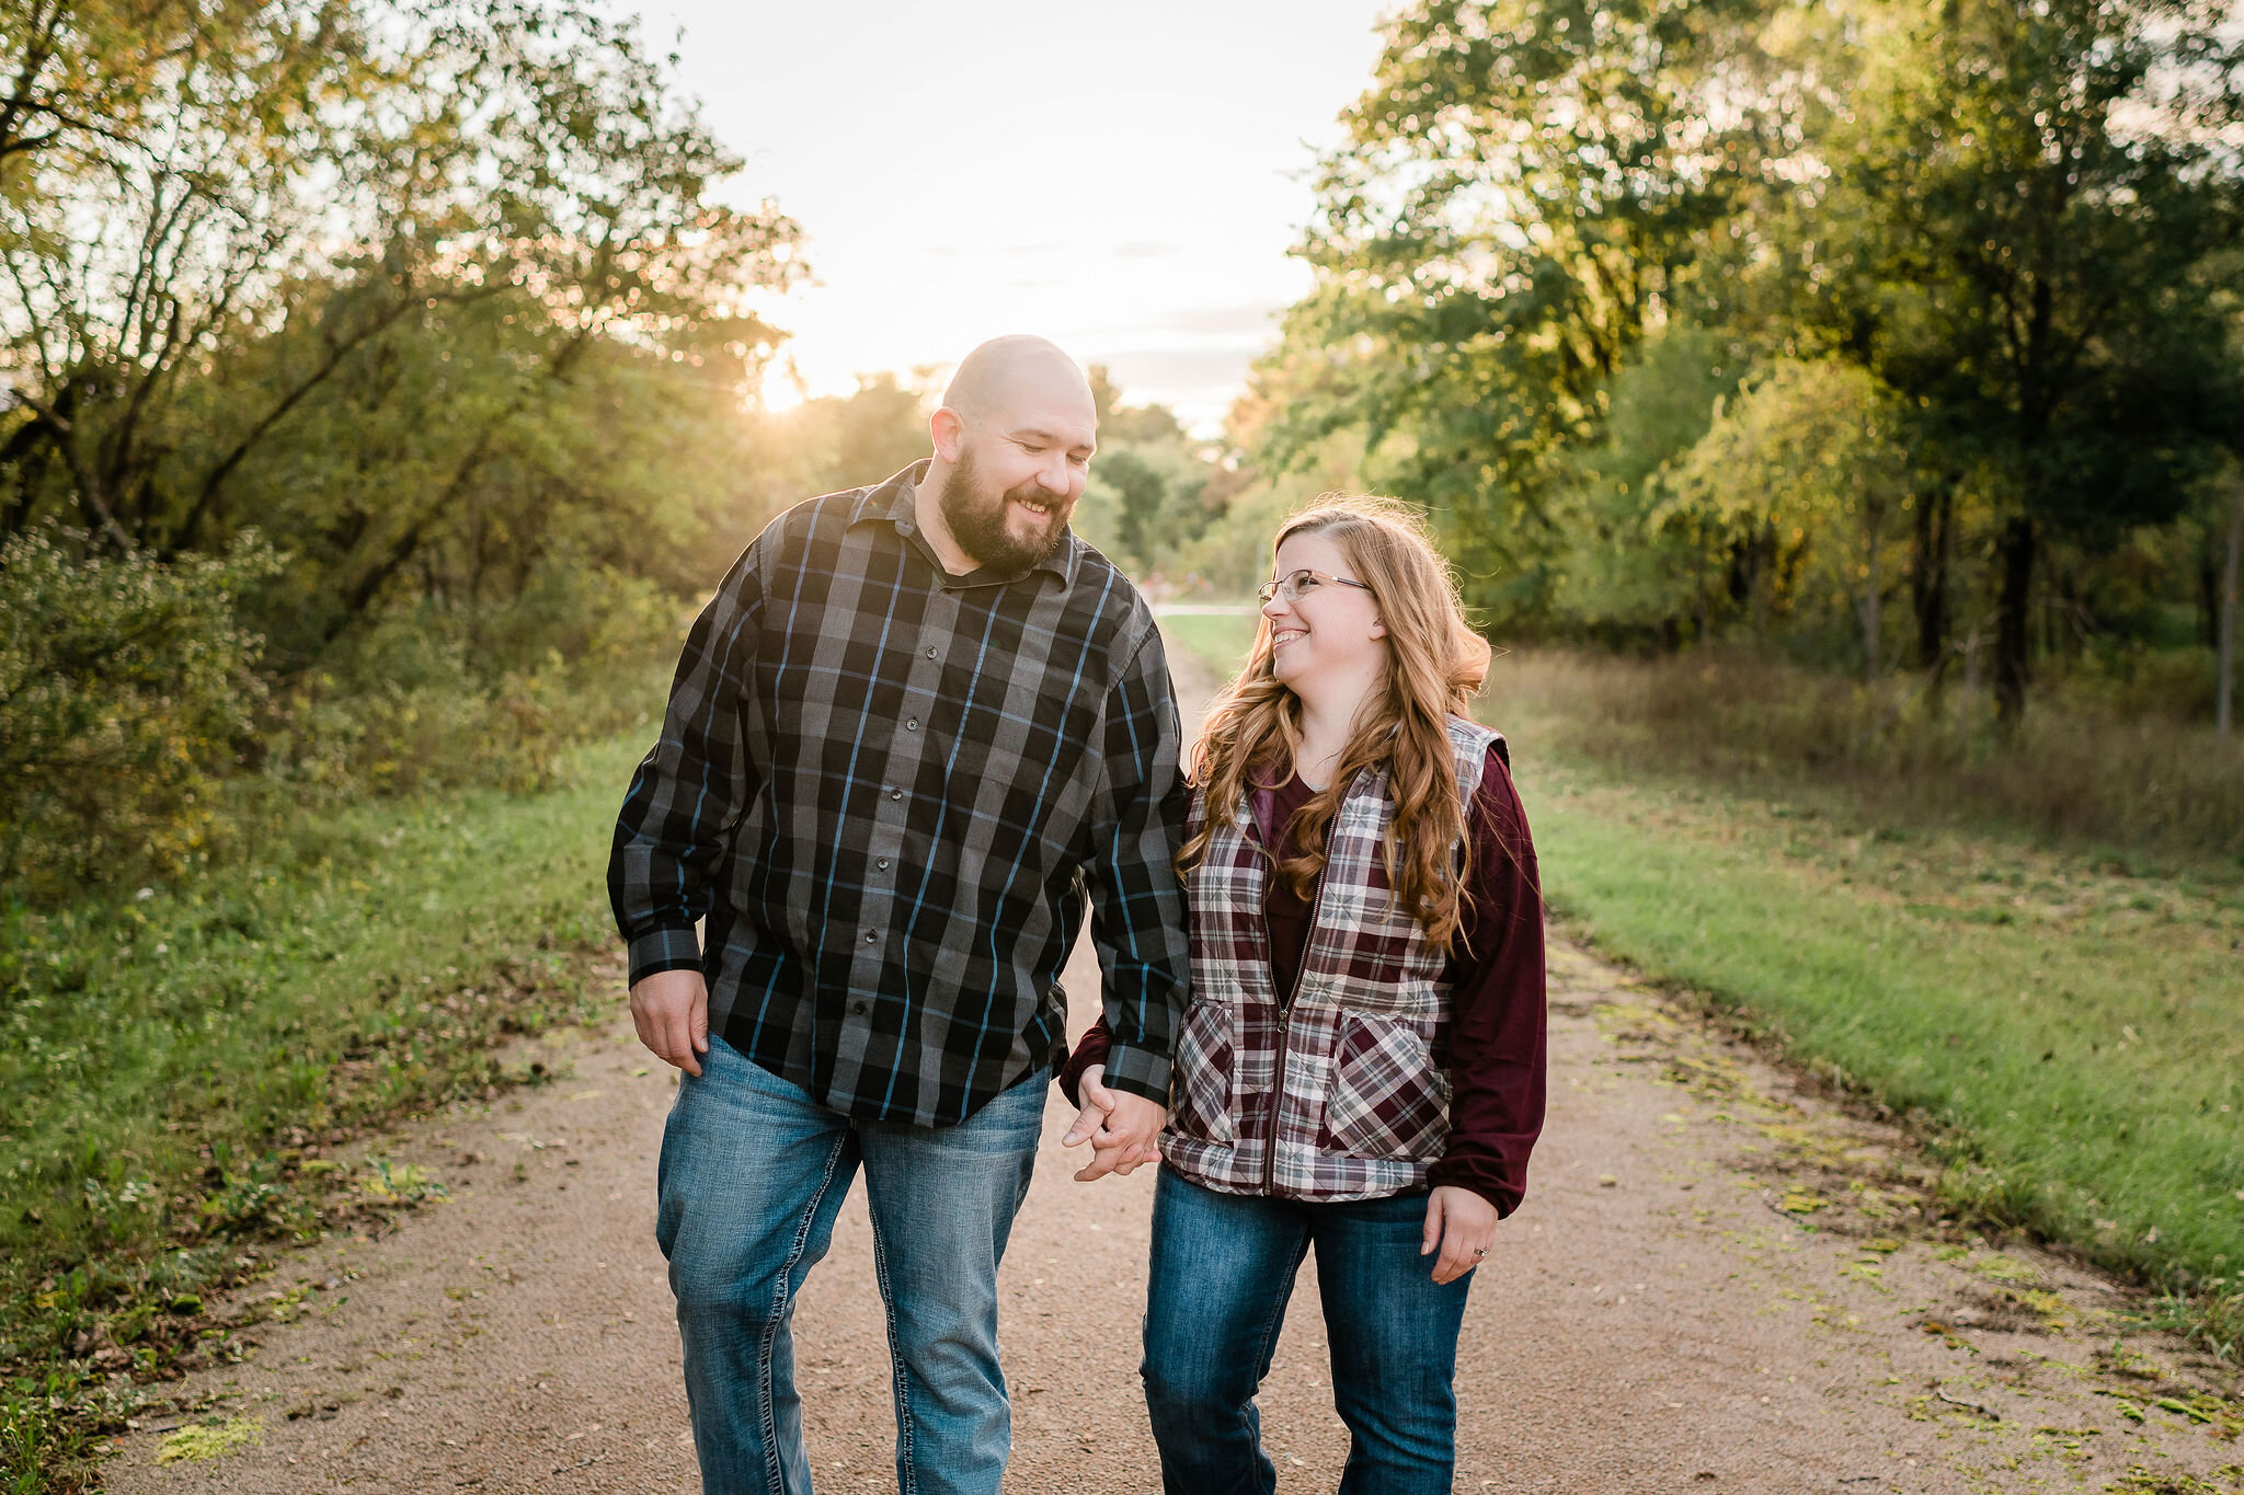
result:
<svg viewBox="0 0 2244 1495"><path fill-rule="evenodd" d="M1299 776L1257 796L1257 820L1284 825L1315 789ZM1470 1188L1499 1215L1519 1208L1528 1186L1528 1152L1544 1118L1544 930L1542 876L1519 791L1497 753L1472 796L1472 858L1465 874L1465 928L1450 948L1450 1148L1427 1172L1427 1183ZM1270 930L1272 988L1290 1000L1315 919L1272 876L1263 894ZM1068 1101L1091 1065L1106 1060L1104 1018L1084 1033L1059 1076Z"/></svg>

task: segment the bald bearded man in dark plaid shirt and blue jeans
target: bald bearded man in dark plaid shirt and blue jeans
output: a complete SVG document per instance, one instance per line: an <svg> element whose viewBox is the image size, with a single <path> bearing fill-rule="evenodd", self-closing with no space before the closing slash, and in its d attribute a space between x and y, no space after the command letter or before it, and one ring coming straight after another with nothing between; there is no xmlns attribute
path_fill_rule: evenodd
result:
<svg viewBox="0 0 2244 1495"><path fill-rule="evenodd" d="M684 1071L655 1233L705 1491L810 1491L788 1325L862 1166L898 1484L996 1493L996 1266L1086 901L1115 1049L1084 1172L1160 1132L1187 973L1178 717L1144 598L1068 531L1095 428L1057 347L976 347L931 459L747 547L624 800L631 1015Z"/></svg>

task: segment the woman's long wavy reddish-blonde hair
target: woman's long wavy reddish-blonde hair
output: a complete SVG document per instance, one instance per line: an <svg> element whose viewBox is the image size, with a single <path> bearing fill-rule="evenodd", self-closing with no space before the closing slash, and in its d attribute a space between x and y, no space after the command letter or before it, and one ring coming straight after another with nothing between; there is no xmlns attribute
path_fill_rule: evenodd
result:
<svg viewBox="0 0 2244 1495"><path fill-rule="evenodd" d="M1293 536L1331 540L1355 581L1371 587L1387 625L1387 688L1364 702L1333 782L1295 818L1277 876L1299 899L1313 897L1342 796L1360 771L1385 762L1396 805L1385 845L1387 883L1427 939L1447 948L1465 917L1461 888L1468 876L1452 847L1470 852L1447 719L1465 713L1488 677L1488 641L1465 623L1456 581L1414 509L1389 498L1326 493L1286 520L1270 554ZM1185 843L1178 865L1198 865L1216 827L1236 820L1250 789L1281 784L1299 746L1302 697L1270 670L1270 619L1263 619L1245 668L1216 697L1201 728L1192 782L1205 791L1207 820Z"/></svg>

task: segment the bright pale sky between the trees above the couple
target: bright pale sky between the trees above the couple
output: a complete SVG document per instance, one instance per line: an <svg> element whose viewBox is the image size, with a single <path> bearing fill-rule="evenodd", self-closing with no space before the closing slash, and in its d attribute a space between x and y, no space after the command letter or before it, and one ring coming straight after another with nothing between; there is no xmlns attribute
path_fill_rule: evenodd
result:
<svg viewBox="0 0 2244 1495"><path fill-rule="evenodd" d="M792 334L774 406L1039 332L1198 430L1308 289L1286 251L1391 9L635 4L747 161L729 195L803 226L815 285L772 307Z"/></svg>

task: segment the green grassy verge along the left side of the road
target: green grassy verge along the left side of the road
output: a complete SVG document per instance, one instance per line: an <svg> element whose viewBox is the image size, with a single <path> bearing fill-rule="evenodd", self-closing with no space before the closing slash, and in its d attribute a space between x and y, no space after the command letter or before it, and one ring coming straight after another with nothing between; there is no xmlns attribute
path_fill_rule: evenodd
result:
<svg viewBox="0 0 2244 1495"><path fill-rule="evenodd" d="M352 1139L536 1080L509 1033L613 995L608 825L644 731L565 789L384 800L245 865L0 930L0 1464L83 1488L144 1392L238 1354L202 1293L429 1192Z"/></svg>

